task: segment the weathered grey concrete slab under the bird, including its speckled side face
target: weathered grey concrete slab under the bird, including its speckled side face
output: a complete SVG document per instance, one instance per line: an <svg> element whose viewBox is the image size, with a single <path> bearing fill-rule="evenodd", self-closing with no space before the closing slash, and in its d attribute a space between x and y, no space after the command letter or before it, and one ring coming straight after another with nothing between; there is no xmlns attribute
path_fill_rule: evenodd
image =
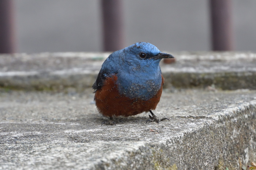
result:
<svg viewBox="0 0 256 170"><path fill-rule="evenodd" d="M170 121L100 126L92 90L1 91L0 169L231 170L256 159L256 91L165 89L155 114Z"/></svg>

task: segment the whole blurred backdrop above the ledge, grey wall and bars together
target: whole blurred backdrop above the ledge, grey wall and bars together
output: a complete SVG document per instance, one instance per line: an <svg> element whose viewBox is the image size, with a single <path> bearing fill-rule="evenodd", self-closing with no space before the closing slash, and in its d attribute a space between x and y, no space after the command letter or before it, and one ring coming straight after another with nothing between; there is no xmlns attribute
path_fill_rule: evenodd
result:
<svg viewBox="0 0 256 170"><path fill-rule="evenodd" d="M161 51L255 52L256 0L218 1L226 4L214 4L214 0L1 0L0 34L11 36L1 35L0 46L10 41L9 51L18 53L93 52L146 41ZM224 20L214 20L218 17ZM3 28L4 22L11 28ZM218 24L221 29L216 34L213 28ZM3 33L4 29L8 32ZM214 47L213 36L222 38L215 46L226 40L221 47L227 46Z"/></svg>

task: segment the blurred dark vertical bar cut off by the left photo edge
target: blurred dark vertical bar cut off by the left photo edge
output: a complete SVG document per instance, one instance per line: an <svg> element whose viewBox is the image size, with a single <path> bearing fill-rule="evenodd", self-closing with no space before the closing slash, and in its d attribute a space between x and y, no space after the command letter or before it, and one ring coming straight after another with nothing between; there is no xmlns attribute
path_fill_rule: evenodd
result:
<svg viewBox="0 0 256 170"><path fill-rule="evenodd" d="M15 52L12 0L0 0L0 53Z"/></svg>

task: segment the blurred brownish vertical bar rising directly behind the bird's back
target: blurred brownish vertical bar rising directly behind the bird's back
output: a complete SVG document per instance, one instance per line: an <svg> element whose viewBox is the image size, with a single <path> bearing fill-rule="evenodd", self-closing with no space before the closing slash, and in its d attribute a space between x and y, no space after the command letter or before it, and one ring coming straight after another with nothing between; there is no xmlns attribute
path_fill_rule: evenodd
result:
<svg viewBox="0 0 256 170"><path fill-rule="evenodd" d="M122 0L101 0L103 18L103 50L124 48Z"/></svg>

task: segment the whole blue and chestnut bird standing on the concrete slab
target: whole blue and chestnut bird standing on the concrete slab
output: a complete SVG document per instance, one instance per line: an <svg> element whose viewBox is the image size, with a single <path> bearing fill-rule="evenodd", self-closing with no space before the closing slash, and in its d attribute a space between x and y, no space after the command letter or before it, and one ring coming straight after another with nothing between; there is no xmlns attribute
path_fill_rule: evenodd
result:
<svg viewBox="0 0 256 170"><path fill-rule="evenodd" d="M108 56L92 86L99 113L109 117L102 124L116 125L114 117L142 112L151 113L146 123L169 120L159 119L152 112L162 95L164 78L159 62L164 58L174 56L147 42L132 44Z"/></svg>

